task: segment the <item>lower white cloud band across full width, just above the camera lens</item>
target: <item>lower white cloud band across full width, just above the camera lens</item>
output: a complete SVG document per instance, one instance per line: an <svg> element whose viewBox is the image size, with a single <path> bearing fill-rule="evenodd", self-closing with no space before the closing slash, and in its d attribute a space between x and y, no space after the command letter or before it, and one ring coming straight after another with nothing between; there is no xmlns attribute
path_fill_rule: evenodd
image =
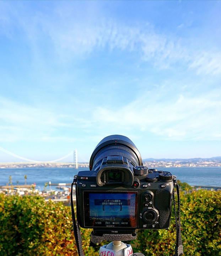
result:
<svg viewBox="0 0 221 256"><path fill-rule="evenodd" d="M105 135L139 130L171 140L220 140L221 90L194 96L180 90L168 97L171 90L172 86L144 90L122 107L92 107L82 117L81 112L61 114L56 108L21 105L1 97L0 141L74 142L76 134L92 134L94 127Z"/></svg>

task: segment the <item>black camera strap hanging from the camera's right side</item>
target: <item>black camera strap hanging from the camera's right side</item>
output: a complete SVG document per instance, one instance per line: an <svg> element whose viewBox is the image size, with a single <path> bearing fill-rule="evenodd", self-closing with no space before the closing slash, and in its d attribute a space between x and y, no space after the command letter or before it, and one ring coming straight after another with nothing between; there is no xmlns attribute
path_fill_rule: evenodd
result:
<svg viewBox="0 0 221 256"><path fill-rule="evenodd" d="M173 193L173 204L174 204L174 212L175 212L175 220L176 220L176 247L174 256L180 256L183 254L183 244L181 238L181 222L180 222L180 194L179 194L179 185L177 183L177 177L173 176L174 186L177 188L177 198L178 198L178 220L177 220L177 210L176 210L176 200L175 193Z"/></svg>

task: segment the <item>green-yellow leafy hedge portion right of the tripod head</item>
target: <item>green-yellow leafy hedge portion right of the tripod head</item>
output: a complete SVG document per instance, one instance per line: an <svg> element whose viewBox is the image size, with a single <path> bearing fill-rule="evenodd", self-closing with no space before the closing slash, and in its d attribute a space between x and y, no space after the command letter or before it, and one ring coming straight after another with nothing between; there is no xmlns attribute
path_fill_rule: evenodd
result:
<svg viewBox="0 0 221 256"><path fill-rule="evenodd" d="M221 191L182 194L181 209L184 255L221 256ZM145 256L173 256L175 243L173 209L169 229L138 231L136 251Z"/></svg>

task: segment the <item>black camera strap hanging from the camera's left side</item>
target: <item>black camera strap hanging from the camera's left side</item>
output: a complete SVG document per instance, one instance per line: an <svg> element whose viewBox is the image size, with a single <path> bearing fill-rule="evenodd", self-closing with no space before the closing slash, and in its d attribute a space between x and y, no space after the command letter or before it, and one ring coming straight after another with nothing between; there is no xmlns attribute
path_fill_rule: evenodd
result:
<svg viewBox="0 0 221 256"><path fill-rule="evenodd" d="M82 249L82 237L81 237L81 231L79 228L79 223L77 218L75 219L75 212L74 212L74 204L73 204L73 185L76 184L76 179L74 178L72 184L71 184L71 215L72 215L72 226L74 230L74 236L75 236L75 241L76 241L76 246L77 246L77 251L79 256L85 256L83 254L83 249ZM77 213L76 213L77 217Z"/></svg>

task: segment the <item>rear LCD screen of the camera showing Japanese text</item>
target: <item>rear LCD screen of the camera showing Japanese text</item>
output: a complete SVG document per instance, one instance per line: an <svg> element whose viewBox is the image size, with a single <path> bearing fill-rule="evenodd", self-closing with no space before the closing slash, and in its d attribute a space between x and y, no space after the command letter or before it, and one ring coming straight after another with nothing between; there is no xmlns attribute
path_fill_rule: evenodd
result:
<svg viewBox="0 0 221 256"><path fill-rule="evenodd" d="M85 226L136 228L137 191L84 191Z"/></svg>

